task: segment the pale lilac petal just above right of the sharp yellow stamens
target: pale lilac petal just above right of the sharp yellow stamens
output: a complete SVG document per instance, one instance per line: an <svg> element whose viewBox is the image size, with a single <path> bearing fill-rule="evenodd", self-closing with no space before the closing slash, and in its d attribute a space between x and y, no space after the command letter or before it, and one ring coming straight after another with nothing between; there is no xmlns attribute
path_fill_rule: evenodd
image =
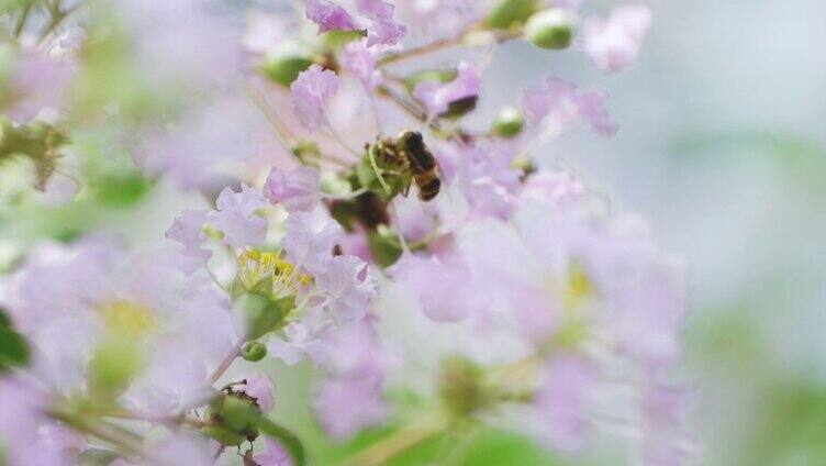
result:
<svg viewBox="0 0 826 466"><path fill-rule="evenodd" d="M342 234L342 228L332 220L308 212L291 213L283 240L287 257L311 275L322 274Z"/></svg>

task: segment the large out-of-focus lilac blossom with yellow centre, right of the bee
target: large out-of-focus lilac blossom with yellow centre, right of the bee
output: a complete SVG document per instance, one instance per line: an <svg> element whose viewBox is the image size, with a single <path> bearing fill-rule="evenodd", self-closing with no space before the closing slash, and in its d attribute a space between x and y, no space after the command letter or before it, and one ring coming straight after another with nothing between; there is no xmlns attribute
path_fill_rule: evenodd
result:
<svg viewBox="0 0 826 466"><path fill-rule="evenodd" d="M571 450L594 425L592 401L611 360L643 374L678 360L682 274L635 219L592 211L591 195L569 174L533 176L544 186L525 188L534 192L520 197L509 219L473 218L451 233L451 251L403 257L392 277L435 321L481 325L533 345L536 355L514 364L533 367L539 380L536 431L554 448ZM605 352L613 356L595 356ZM645 384L627 382L649 396ZM650 415L646 406L638 408L643 417ZM655 444L683 445L679 425ZM655 431L643 435L643 446Z"/></svg>

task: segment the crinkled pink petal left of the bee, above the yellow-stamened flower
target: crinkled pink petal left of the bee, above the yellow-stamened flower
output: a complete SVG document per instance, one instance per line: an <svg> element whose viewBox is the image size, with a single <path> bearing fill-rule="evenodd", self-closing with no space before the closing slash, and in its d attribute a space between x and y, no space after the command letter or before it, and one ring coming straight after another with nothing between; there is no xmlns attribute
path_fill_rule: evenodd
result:
<svg viewBox="0 0 826 466"><path fill-rule="evenodd" d="M274 204L282 204L288 212L315 209L321 199L319 171L299 167L289 173L272 167L264 185L264 196Z"/></svg>

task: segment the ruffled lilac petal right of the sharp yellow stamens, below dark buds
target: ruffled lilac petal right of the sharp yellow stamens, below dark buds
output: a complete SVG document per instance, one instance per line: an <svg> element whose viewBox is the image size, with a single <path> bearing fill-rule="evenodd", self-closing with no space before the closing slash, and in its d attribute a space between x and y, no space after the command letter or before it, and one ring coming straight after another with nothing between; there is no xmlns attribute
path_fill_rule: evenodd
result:
<svg viewBox="0 0 826 466"><path fill-rule="evenodd" d="M355 256L333 257L315 282L325 295L324 306L337 319L362 318L376 296L377 282L367 263Z"/></svg>

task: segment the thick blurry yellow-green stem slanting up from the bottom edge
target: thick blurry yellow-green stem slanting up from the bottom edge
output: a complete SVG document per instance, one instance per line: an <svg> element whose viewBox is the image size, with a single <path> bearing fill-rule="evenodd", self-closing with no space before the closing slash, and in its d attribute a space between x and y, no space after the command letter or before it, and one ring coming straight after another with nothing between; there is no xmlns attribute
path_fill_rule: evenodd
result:
<svg viewBox="0 0 826 466"><path fill-rule="evenodd" d="M448 428L442 415L424 418L402 429L346 459L342 466L379 466L425 442Z"/></svg>

